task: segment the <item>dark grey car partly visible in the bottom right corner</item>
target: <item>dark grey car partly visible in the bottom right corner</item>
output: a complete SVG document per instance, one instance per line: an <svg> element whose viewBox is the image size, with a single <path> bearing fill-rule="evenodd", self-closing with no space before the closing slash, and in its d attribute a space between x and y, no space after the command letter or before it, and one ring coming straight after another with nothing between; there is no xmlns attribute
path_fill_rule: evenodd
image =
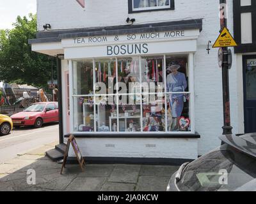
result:
<svg viewBox="0 0 256 204"><path fill-rule="evenodd" d="M218 149L182 164L167 191L256 191L256 133L220 139Z"/></svg>

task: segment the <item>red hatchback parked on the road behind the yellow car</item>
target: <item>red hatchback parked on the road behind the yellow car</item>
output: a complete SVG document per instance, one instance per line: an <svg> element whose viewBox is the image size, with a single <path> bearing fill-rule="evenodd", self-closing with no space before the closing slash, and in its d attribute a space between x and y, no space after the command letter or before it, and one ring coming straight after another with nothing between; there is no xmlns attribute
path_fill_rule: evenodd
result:
<svg viewBox="0 0 256 204"><path fill-rule="evenodd" d="M41 128L44 123L59 121L58 103L34 103L23 112L12 115L11 119L16 128L20 126Z"/></svg>

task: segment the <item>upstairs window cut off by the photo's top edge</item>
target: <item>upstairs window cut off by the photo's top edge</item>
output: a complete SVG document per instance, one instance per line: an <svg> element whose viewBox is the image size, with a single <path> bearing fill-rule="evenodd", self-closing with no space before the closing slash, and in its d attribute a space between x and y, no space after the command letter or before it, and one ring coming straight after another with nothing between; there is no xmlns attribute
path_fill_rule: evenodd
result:
<svg viewBox="0 0 256 204"><path fill-rule="evenodd" d="M173 9L174 0L129 0L129 13Z"/></svg>

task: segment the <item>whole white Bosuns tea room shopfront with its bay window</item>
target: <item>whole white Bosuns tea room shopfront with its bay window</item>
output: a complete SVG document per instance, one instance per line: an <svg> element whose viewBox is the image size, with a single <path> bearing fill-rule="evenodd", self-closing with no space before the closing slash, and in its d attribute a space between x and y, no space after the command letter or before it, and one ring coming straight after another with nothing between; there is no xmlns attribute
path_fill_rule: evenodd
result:
<svg viewBox="0 0 256 204"><path fill-rule="evenodd" d="M198 157L194 55L201 30L198 20L59 34L48 46L63 50L63 135L75 135L85 157ZM33 49L42 45L49 49L40 42Z"/></svg>

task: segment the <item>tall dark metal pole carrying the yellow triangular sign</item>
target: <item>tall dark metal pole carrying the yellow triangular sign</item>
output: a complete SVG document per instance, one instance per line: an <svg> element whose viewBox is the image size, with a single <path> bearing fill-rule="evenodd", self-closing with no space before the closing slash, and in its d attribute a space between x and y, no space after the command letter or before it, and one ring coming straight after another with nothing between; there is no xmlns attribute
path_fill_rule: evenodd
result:
<svg viewBox="0 0 256 204"><path fill-rule="evenodd" d="M227 1L220 0L220 28L221 31L227 27ZM220 31L220 32L221 32ZM228 77L228 47L223 47L222 64L222 91L223 91L223 135L232 135L230 125L230 98L229 98L229 77Z"/></svg>

